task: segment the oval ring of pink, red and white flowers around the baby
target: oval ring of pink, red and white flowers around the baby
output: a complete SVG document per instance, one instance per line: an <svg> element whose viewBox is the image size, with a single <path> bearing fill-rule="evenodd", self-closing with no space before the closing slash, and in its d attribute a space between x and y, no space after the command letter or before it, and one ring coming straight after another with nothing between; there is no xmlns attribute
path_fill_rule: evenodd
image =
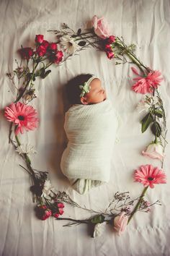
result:
<svg viewBox="0 0 170 256"><path fill-rule="evenodd" d="M35 171L32 167L30 155L36 153L35 148L30 144L24 145L20 141L20 135L25 131L36 129L39 123L37 111L30 106L30 102L36 98L37 77L45 79L51 72L49 67L52 64L61 65L63 61L71 59L75 53L91 47L104 51L108 59L115 60L115 65L133 63L138 67L138 69L135 67L131 69L135 74L132 90L144 95L137 106L140 112L146 113L141 120L141 132L146 132L148 127L151 127L153 133L151 143L143 149L142 154L159 159L163 168L167 129L164 104L158 92L158 87L163 80L161 72L146 67L135 56L135 44L127 46L123 38L112 35L104 18L98 19L94 16L88 25L89 28L82 32L80 28L74 31L63 23L60 30L52 30L57 38L56 42L48 42L43 35L36 35L35 48L19 49L22 61L20 64L16 61L17 68L14 69L13 74L7 74L13 84L16 79L18 80L17 97L13 103L4 108L4 116L11 123L9 142L23 158L25 166L22 168L31 177L32 200L36 202L37 218L45 220L53 216L58 221L69 221L65 226L86 223L92 226L91 236L93 237L101 236L104 225L109 223L120 235L138 210L148 213L152 205L160 205L158 200L153 203L144 200L144 196L149 187L154 188L154 184L166 183L166 174L162 169L151 164L139 166L133 176L135 182L144 186L140 197L132 199L129 192L116 192L107 209L104 212L97 212L74 202L66 192L56 191L50 184L48 172ZM61 218L64 213L64 203L89 211L92 217L84 220Z"/></svg>

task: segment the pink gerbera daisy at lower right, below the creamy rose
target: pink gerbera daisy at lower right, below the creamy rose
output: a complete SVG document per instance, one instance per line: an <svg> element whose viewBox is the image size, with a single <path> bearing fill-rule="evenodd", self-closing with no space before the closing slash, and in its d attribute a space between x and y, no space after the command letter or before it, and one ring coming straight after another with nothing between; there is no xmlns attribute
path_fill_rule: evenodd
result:
<svg viewBox="0 0 170 256"><path fill-rule="evenodd" d="M166 174L158 167L153 167L151 164L146 166L140 166L139 169L135 170L135 182L143 183L144 187L151 187L153 189L153 184L163 184L166 183Z"/></svg>

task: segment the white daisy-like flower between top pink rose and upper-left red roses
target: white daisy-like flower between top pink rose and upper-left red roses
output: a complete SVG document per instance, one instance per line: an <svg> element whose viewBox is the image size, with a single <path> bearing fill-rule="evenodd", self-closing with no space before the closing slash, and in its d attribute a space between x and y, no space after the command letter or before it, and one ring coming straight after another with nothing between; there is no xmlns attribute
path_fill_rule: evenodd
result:
<svg viewBox="0 0 170 256"><path fill-rule="evenodd" d="M73 40L69 35L63 35L60 38L60 43L68 54L74 54L77 48L79 48L75 40Z"/></svg>

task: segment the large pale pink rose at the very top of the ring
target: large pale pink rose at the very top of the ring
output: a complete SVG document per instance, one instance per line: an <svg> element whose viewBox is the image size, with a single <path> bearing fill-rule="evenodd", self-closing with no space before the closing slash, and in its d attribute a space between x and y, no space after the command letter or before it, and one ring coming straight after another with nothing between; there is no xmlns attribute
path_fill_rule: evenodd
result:
<svg viewBox="0 0 170 256"><path fill-rule="evenodd" d="M98 19L96 15L92 18L92 26L94 27L94 33L99 36L99 38L105 39L110 35L109 25L104 21L104 17Z"/></svg>

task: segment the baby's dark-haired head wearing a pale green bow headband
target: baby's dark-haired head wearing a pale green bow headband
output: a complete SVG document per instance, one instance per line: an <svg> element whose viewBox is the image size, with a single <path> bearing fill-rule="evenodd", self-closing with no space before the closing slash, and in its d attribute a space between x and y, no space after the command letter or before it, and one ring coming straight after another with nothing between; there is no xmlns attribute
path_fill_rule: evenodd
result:
<svg viewBox="0 0 170 256"><path fill-rule="evenodd" d="M68 101L71 104L95 104L106 99L102 82L92 74L79 74L66 85Z"/></svg>

